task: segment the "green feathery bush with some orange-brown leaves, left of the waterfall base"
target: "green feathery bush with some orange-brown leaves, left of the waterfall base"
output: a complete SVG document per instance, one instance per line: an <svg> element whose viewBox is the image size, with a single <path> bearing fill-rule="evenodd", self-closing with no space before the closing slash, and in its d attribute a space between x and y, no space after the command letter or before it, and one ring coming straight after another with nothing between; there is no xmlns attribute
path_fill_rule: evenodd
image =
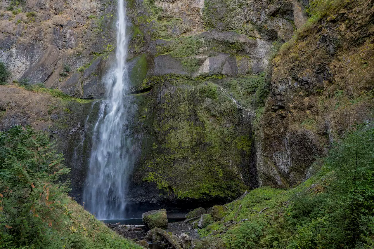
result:
<svg viewBox="0 0 374 249"><path fill-rule="evenodd" d="M41 244L64 225L70 170L46 133L15 126L0 132L0 248Z"/></svg>

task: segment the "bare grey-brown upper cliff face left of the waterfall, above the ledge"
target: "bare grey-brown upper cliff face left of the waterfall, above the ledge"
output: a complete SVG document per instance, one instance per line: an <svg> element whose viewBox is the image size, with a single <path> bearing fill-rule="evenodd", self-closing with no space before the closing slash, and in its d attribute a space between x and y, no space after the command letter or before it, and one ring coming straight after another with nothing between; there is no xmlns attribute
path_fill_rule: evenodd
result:
<svg viewBox="0 0 374 249"><path fill-rule="evenodd" d="M0 10L0 55L9 82L27 79L79 98L104 95L101 79L116 37L114 2L7 3Z"/></svg>

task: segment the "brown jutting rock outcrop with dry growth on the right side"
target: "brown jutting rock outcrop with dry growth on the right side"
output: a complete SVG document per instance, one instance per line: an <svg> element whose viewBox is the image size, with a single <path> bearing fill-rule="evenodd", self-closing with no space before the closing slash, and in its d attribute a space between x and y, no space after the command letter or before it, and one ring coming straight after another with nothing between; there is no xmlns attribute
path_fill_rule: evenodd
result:
<svg viewBox="0 0 374 249"><path fill-rule="evenodd" d="M255 134L260 185L303 181L345 132L372 122L374 33L366 7L357 4L303 28L273 60L270 95ZM343 27L362 32L350 36Z"/></svg>

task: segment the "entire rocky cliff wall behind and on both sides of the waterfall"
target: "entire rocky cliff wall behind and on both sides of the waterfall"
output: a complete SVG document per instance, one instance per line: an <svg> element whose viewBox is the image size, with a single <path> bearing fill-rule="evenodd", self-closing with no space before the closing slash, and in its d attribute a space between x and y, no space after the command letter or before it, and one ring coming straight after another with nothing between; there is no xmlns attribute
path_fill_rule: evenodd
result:
<svg viewBox="0 0 374 249"><path fill-rule="evenodd" d="M115 2L2 4L9 83L105 96ZM304 1L129 1L132 204L209 206L247 188L297 184L352 124L371 120L371 7L340 7L302 27L311 13ZM1 129L32 124L54 134L79 200L99 102L3 88Z"/></svg>

